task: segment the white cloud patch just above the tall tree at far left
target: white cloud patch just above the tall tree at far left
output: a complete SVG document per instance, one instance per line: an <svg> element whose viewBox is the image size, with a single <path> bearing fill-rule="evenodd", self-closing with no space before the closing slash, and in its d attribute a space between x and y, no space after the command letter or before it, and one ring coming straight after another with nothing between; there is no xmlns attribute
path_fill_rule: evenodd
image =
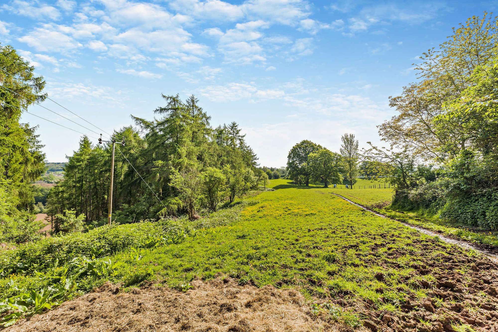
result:
<svg viewBox="0 0 498 332"><path fill-rule="evenodd" d="M49 24L43 24L43 27L37 27L17 40L42 52L65 53L83 46L74 38L57 31L54 26Z"/></svg>

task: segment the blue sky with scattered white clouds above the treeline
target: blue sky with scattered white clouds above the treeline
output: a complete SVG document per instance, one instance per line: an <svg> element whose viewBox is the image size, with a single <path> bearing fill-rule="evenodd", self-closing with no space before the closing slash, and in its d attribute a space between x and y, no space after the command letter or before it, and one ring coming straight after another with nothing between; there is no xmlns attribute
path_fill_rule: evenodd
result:
<svg viewBox="0 0 498 332"><path fill-rule="evenodd" d="M0 40L47 81L49 97L110 132L151 119L161 93L195 94L212 125L236 121L262 166L303 139L339 151L353 133L378 142L388 96L413 63L497 1L3 0ZM81 122L46 101L43 105ZM47 110L30 112L88 133ZM50 162L79 134L28 114ZM94 129L96 132L99 130Z"/></svg>

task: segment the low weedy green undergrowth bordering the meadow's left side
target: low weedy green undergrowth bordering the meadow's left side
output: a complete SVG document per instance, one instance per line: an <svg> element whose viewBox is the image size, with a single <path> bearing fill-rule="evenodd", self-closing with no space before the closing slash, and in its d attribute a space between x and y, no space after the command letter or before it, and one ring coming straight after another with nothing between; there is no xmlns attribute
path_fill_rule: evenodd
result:
<svg viewBox="0 0 498 332"><path fill-rule="evenodd" d="M24 316L41 313L65 300L91 291L110 278L124 287L154 276L150 267L126 268L108 257L121 251L126 261L140 262L142 250L158 249L185 241L196 229L228 225L239 220L247 203L237 204L190 224L170 218L159 222L104 226L88 233L73 233L27 243L1 253L1 326ZM116 280L116 279L115 279ZM187 290L190 284L182 286Z"/></svg>

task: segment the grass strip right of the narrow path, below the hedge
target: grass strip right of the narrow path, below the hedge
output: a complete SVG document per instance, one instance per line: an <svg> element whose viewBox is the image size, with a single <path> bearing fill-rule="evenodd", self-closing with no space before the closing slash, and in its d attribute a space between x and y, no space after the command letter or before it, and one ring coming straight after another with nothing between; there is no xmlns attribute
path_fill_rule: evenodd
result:
<svg viewBox="0 0 498 332"><path fill-rule="evenodd" d="M412 225L421 226L445 235L458 237L467 241L490 246L498 246L498 232L472 229L463 225L455 225L447 220L440 219L437 215L420 211L401 211L392 209L389 203L392 199L393 189L333 189L355 203L367 206L373 210Z"/></svg>

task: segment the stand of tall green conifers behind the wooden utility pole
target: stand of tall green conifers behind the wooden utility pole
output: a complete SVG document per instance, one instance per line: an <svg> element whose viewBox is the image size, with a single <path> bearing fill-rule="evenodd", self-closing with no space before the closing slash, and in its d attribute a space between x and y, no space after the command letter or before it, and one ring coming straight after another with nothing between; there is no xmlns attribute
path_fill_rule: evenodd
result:
<svg viewBox="0 0 498 332"><path fill-rule="evenodd" d="M124 127L114 133L114 137L126 142L117 147L115 159L113 220L118 223L182 213L196 218L199 204L216 209L220 203L215 202L216 195L211 195L211 203L209 198L204 199L209 195L202 192L199 173L209 167L252 169L256 165L257 158L237 123L212 128L210 117L194 96L186 101L178 95L162 97L164 105L154 110L156 119L132 116L136 127ZM76 215L86 215L87 223L107 217L110 149L110 144L93 145L86 137L80 141L79 149L64 165L64 181L50 191L47 211L51 216L74 209ZM189 175L190 172L193 173ZM56 231L60 229L59 223L56 218Z"/></svg>

